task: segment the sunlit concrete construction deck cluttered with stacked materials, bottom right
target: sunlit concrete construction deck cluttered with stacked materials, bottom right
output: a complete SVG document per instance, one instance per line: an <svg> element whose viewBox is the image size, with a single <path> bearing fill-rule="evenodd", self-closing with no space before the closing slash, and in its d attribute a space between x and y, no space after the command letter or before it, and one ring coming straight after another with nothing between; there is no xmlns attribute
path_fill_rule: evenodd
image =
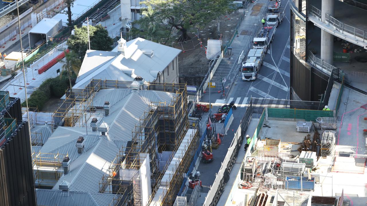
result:
<svg viewBox="0 0 367 206"><path fill-rule="evenodd" d="M366 100L353 95L353 99ZM364 204L366 148L350 138L365 133L361 128L367 118L361 116L366 108L351 102L345 106L346 113L355 113L356 120L352 114L338 120L335 111L318 107L316 102L252 98L244 120L255 132L248 148L245 145L241 166L233 168L229 178L234 178L222 192L226 195L216 199L210 191L204 205ZM356 108L349 111L350 107ZM354 121L359 121L357 128L352 126ZM247 126L242 128L246 132ZM239 140L243 135L237 133Z"/></svg>

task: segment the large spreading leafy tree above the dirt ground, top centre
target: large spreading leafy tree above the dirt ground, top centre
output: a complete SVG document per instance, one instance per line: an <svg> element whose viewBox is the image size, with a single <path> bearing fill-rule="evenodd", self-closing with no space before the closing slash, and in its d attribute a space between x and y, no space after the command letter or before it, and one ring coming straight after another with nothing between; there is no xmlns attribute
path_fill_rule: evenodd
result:
<svg viewBox="0 0 367 206"><path fill-rule="evenodd" d="M141 4L151 5L158 12L155 19L181 31L180 42L190 39L190 27L203 28L232 10L231 0L146 0Z"/></svg>

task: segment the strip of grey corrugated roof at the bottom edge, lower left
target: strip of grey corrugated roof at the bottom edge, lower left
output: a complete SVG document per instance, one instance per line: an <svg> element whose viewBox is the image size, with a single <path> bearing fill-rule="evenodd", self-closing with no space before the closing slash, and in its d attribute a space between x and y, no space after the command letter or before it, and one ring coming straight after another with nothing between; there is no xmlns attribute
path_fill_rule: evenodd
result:
<svg viewBox="0 0 367 206"><path fill-rule="evenodd" d="M115 194L36 189L37 205L108 206Z"/></svg>

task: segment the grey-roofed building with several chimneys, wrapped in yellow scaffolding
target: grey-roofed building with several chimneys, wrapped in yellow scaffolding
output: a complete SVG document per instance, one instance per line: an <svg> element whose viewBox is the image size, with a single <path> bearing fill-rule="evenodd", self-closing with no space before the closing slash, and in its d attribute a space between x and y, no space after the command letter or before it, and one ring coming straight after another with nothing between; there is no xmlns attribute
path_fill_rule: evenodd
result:
<svg viewBox="0 0 367 206"><path fill-rule="evenodd" d="M32 124L39 205L57 203L46 197L60 190L106 205L173 204L199 130L189 126L185 84L142 82L92 80L66 91L51 124Z"/></svg>

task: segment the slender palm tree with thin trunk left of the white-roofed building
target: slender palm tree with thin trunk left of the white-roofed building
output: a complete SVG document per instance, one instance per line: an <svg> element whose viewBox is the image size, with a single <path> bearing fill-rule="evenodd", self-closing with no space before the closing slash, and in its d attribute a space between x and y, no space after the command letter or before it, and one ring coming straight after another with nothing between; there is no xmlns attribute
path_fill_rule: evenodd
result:
<svg viewBox="0 0 367 206"><path fill-rule="evenodd" d="M70 51L69 53L64 51L64 53L65 58L59 59L58 62L62 63L62 70L63 71L65 70L66 74L68 75L70 92L72 92L72 83L71 83L72 73L78 75L81 66L81 61L77 57L77 55L72 51ZM60 78L61 76L62 72L60 73Z"/></svg>

